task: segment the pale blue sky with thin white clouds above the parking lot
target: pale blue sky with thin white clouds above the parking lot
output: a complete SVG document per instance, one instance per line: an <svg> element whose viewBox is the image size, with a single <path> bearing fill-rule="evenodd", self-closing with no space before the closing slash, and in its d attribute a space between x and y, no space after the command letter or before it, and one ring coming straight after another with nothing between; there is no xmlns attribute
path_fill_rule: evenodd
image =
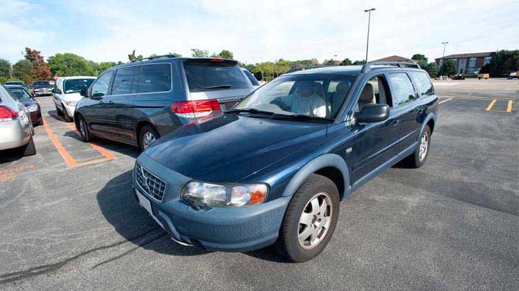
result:
<svg viewBox="0 0 519 291"><path fill-rule="evenodd" d="M75 53L95 62L191 48L230 50L246 64L276 59L368 59L519 48L519 0L471 1L27 1L2 0L0 58L26 46L44 57Z"/></svg>

